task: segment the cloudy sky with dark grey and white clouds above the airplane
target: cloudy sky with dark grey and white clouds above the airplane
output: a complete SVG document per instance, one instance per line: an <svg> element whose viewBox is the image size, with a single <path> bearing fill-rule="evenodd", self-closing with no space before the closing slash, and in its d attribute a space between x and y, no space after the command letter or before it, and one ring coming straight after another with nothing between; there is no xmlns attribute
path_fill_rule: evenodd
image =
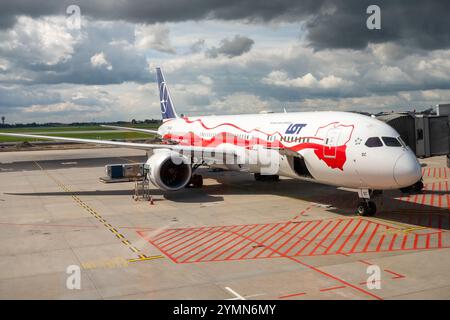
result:
<svg viewBox="0 0 450 320"><path fill-rule="evenodd" d="M366 27L370 4L380 30ZM187 115L425 109L450 102L449 12L448 0L2 0L0 115L159 118L156 66Z"/></svg>

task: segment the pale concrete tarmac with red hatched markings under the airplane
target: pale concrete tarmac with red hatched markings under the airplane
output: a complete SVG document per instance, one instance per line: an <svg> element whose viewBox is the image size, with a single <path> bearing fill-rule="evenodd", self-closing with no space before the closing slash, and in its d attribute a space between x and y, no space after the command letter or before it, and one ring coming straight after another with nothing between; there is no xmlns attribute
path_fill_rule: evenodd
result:
<svg viewBox="0 0 450 320"><path fill-rule="evenodd" d="M200 168L201 189L135 201L122 148L0 153L0 299L450 299L450 169L425 189L357 194ZM152 204L153 203L153 204ZM75 276L80 275L80 278Z"/></svg>

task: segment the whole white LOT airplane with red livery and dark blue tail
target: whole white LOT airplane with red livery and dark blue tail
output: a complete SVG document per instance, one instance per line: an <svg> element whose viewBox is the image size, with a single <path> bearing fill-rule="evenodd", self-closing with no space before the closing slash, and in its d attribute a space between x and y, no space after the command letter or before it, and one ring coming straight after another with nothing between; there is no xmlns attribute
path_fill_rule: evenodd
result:
<svg viewBox="0 0 450 320"><path fill-rule="evenodd" d="M157 134L162 143L0 135L146 150L147 177L164 191L201 187L202 176L194 174L201 165L250 172L255 180L283 176L344 187L358 192L356 213L362 216L375 215L372 199L383 190L423 188L415 154L396 130L374 117L335 111L178 116L159 67L156 78L163 119L158 130L105 127Z"/></svg>

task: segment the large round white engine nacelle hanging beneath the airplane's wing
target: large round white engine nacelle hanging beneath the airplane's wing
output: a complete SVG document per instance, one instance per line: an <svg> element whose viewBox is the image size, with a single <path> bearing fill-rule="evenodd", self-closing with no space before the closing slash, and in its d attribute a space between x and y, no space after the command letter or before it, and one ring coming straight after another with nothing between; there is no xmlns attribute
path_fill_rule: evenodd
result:
<svg viewBox="0 0 450 320"><path fill-rule="evenodd" d="M154 153L146 163L149 179L158 188L176 191L184 188L192 175L192 168L185 156L173 151Z"/></svg>

